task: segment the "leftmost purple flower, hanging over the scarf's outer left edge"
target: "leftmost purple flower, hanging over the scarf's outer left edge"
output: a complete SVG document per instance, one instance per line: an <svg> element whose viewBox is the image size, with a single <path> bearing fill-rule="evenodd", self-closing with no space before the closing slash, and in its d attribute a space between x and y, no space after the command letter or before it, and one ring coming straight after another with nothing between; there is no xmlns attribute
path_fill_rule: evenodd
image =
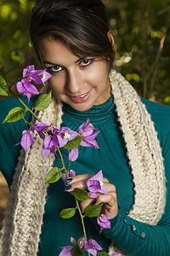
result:
<svg viewBox="0 0 170 256"><path fill-rule="evenodd" d="M33 138L34 138L33 131L26 131L26 130L22 131L21 141L20 143L15 144L15 146L21 145L21 147L24 148L25 151L27 152L28 148L30 148L33 143Z"/></svg>

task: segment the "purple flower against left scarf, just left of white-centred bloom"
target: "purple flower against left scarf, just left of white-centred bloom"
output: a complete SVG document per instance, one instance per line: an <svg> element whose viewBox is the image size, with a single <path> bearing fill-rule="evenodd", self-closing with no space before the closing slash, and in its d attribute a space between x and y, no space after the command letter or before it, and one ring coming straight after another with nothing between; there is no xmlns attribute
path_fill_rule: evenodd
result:
<svg viewBox="0 0 170 256"><path fill-rule="evenodd" d="M55 149L59 144L58 138L55 135L48 135L44 138L42 145L42 157L50 154L51 152L56 154ZM57 154L56 154L57 155Z"/></svg>

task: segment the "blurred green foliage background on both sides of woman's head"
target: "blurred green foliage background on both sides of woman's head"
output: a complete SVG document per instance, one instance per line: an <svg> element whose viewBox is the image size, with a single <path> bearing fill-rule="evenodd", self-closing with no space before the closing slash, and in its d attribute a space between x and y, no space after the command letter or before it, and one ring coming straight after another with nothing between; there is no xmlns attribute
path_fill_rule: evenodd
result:
<svg viewBox="0 0 170 256"><path fill-rule="evenodd" d="M170 105L170 1L103 2L116 42L114 67L140 96ZM28 33L34 3L0 0L0 73L8 81L26 65L38 65Z"/></svg>

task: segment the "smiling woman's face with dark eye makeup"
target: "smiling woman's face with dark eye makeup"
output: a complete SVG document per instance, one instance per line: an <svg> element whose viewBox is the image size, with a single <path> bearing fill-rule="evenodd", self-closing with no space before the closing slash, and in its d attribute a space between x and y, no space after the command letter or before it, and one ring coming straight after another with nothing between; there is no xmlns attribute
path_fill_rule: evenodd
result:
<svg viewBox="0 0 170 256"><path fill-rule="evenodd" d="M73 55L60 41L44 38L39 47L54 96L78 111L100 105L111 97L106 61Z"/></svg>

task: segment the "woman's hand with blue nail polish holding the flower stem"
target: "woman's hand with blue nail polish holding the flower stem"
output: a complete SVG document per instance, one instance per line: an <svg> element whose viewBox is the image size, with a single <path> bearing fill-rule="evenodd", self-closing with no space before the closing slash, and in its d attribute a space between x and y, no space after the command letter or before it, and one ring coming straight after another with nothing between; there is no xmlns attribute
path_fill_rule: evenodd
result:
<svg viewBox="0 0 170 256"><path fill-rule="evenodd" d="M90 177L93 177L94 175L91 174L82 174L82 175L77 175L74 177L71 177L71 181L67 183L66 186L66 191L72 192L74 189L87 189L87 181ZM84 209L88 207L91 203L95 203L95 205L99 205L100 203L104 203L100 214L105 214L109 218L114 218L116 217L116 214L118 212L118 207L117 207L117 199L116 199L116 187L109 183L107 178L103 179L103 183L107 187L108 194L101 194L101 193L96 193L97 198L88 198L86 201L81 202L81 208L82 212L84 212ZM96 201L96 202L95 202Z"/></svg>

